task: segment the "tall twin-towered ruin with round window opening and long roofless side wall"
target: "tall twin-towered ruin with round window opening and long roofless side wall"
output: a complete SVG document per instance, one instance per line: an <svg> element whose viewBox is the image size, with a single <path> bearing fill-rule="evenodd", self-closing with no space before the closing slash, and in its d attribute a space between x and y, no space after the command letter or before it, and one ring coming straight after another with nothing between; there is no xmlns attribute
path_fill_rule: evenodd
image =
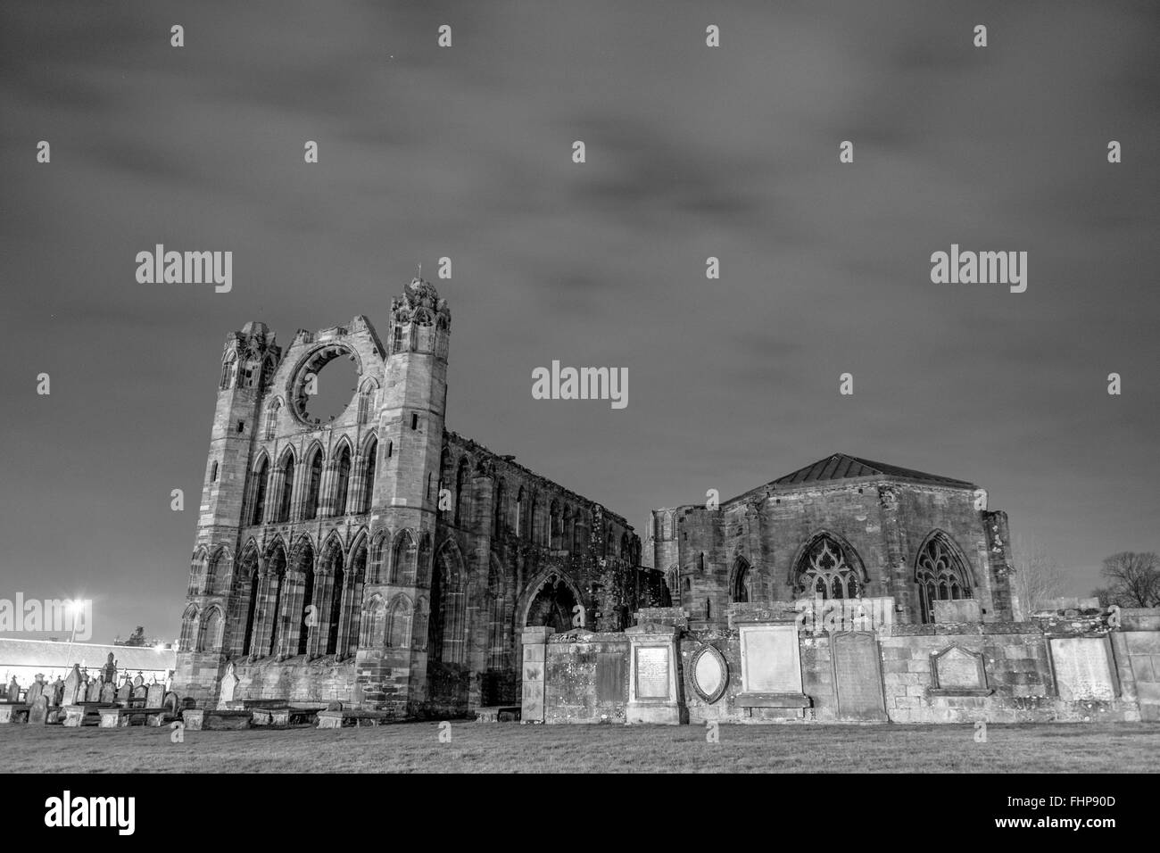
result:
<svg viewBox="0 0 1160 853"><path fill-rule="evenodd" d="M668 603L619 515L449 432L451 313L420 279L364 317L225 344L175 689L398 716L520 701L525 626L619 630ZM354 362L328 422L319 371Z"/></svg>

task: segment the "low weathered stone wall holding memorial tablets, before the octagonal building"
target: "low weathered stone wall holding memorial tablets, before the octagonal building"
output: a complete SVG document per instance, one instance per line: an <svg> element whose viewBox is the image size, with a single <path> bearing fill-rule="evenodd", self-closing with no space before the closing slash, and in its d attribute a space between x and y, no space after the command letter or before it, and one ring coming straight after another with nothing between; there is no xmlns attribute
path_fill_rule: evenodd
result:
<svg viewBox="0 0 1160 853"><path fill-rule="evenodd" d="M768 615L781 609L770 608ZM666 610L655 608L640 615L653 622L664 619L679 631L676 678L682 722L843 723L875 718L873 713L860 718L839 707L840 677L833 652L836 635L798 632L802 691L810 699L810 707L799 714L783 707L739 704L738 696L745 689L738 629L690 630L679 614ZM1160 610L1124 615L1129 629L1124 623L1109 627L1109 614L1103 612L1060 612L1029 622L878 627L861 637L864 653L872 658L871 648L876 649L879 660L882 710L877 718L896 723L1160 721ZM778 623L784 620L769 624ZM538 670L542 713L531 720L525 713L524 720L625 722L632 677L629 635L570 631L548 636L546 629L538 630L543 637L532 655L542 656L543 662ZM867 646L871 641L872 646ZM701 695L694 677L698 655L712 653L703 651L706 648L716 650L727 673L724 688L710 696L712 701ZM1073 659L1075 650L1082 650L1078 660ZM527 660L527 644L524 651ZM1057 667L1066 672L1057 673ZM527 674L525 666L525 701ZM876 684L867 677L862 701L872 703Z"/></svg>

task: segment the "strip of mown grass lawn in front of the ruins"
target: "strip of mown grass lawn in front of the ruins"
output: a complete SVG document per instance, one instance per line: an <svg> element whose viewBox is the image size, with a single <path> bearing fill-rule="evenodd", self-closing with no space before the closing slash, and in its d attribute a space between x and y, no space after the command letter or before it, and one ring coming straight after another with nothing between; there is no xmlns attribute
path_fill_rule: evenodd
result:
<svg viewBox="0 0 1160 853"><path fill-rule="evenodd" d="M362 729L0 725L3 772L884 772L1122 773L1160 769L1160 724L681 725L437 723Z"/></svg>

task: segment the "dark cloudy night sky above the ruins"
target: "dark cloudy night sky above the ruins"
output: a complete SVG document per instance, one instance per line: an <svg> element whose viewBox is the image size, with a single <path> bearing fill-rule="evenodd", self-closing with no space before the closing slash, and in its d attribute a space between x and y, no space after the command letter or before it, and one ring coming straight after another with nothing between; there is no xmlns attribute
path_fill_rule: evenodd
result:
<svg viewBox="0 0 1160 853"><path fill-rule="evenodd" d="M441 255L449 428L638 532L843 451L980 484L1086 594L1160 550L1158 37L1153 2L9 0L0 598L175 636L225 335L385 335ZM138 284L155 243L233 290ZM933 284L952 243L1027 251L1027 292ZM553 359L628 407L534 400Z"/></svg>

